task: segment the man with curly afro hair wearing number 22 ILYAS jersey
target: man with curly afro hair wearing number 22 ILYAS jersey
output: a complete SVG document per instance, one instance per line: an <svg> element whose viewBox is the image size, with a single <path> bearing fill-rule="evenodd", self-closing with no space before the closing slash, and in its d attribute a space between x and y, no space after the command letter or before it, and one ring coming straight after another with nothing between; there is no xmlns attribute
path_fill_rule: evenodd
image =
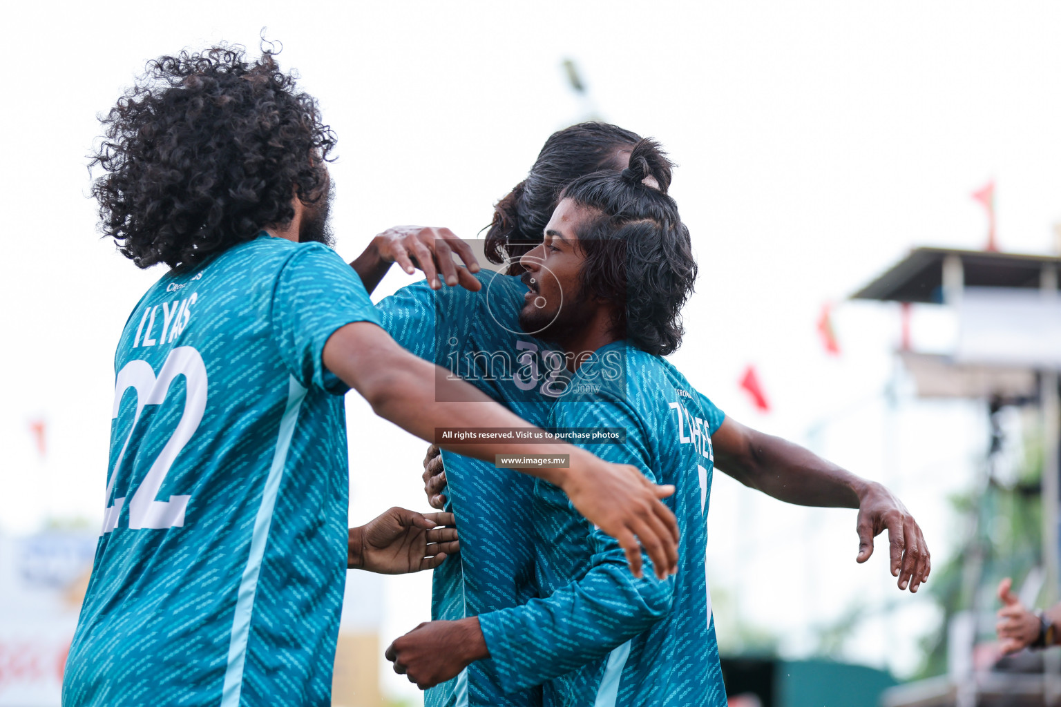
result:
<svg viewBox="0 0 1061 707"><path fill-rule="evenodd" d="M63 704L329 705L346 568L415 571L456 549L438 527L450 514L392 509L348 530L343 394L427 440L534 428L380 326L327 245L334 136L271 52L153 60L102 120L102 230L138 267L169 269L115 356L104 520ZM570 455L527 473L614 535L636 573L642 546L675 570L659 500L673 488L568 444L459 448Z"/></svg>

